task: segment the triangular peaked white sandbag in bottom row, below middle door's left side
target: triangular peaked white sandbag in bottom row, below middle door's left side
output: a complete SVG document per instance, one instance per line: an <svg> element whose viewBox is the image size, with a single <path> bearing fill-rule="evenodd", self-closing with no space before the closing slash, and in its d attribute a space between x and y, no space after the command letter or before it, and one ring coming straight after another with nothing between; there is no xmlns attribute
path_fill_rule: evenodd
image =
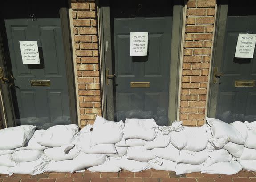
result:
<svg viewBox="0 0 256 182"><path fill-rule="evenodd" d="M88 167L87 170L91 171L91 172L110 172L110 173L117 173L119 172L121 169L118 166L115 166L113 163L111 163L109 160L106 161L104 164L102 165L98 165L98 166L92 166L92 167Z"/></svg>

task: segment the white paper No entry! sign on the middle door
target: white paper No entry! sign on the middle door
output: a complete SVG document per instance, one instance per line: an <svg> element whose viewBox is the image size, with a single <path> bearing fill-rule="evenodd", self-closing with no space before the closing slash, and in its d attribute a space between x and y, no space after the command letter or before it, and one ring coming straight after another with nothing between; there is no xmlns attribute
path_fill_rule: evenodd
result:
<svg viewBox="0 0 256 182"><path fill-rule="evenodd" d="M148 32L130 32L130 56L147 55Z"/></svg>

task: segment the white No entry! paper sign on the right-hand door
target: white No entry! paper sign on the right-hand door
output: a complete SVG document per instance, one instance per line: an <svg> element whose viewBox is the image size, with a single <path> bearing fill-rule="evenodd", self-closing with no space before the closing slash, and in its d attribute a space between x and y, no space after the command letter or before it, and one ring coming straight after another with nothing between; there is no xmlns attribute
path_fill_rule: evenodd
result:
<svg viewBox="0 0 256 182"><path fill-rule="evenodd" d="M253 58L256 34L240 33L236 44L236 58Z"/></svg>

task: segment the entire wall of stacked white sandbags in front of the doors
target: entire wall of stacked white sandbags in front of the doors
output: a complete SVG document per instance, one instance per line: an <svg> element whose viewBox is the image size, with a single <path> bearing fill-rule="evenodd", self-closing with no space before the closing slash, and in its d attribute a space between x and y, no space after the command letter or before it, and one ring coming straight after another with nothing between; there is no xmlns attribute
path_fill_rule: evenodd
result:
<svg viewBox="0 0 256 182"><path fill-rule="evenodd" d="M201 127L183 126L182 121L166 127L154 119L114 122L97 116L94 125L80 131L75 124L37 131L32 125L2 129L0 173L256 171L256 121L206 120Z"/></svg>

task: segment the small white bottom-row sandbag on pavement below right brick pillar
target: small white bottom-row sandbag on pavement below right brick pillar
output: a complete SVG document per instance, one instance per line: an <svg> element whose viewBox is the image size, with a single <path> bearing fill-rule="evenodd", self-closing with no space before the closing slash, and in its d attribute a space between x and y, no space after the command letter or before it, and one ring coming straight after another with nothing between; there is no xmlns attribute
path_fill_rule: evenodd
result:
<svg viewBox="0 0 256 182"><path fill-rule="evenodd" d="M181 175L185 173L194 173L194 172L201 172L201 166L202 164L184 164L184 163L176 163L176 174Z"/></svg>

